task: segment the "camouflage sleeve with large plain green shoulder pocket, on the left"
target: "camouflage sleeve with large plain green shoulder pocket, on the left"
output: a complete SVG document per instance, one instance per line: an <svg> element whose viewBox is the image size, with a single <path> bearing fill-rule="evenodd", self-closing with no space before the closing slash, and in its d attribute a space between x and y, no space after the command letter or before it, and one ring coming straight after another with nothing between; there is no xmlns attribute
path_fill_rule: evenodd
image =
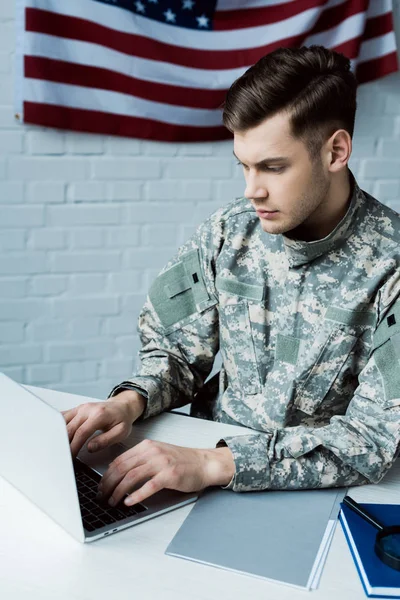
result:
<svg viewBox="0 0 400 600"><path fill-rule="evenodd" d="M215 213L161 271L140 313L140 370L116 386L146 398L142 418L190 403L219 349L215 260L221 243Z"/></svg>

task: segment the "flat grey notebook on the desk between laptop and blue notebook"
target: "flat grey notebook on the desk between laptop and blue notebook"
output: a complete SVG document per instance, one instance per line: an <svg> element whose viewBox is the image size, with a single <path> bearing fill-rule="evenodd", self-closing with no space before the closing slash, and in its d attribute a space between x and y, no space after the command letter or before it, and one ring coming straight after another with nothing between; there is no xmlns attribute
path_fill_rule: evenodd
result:
<svg viewBox="0 0 400 600"><path fill-rule="evenodd" d="M166 554L315 588L346 489L237 493L209 488Z"/></svg>

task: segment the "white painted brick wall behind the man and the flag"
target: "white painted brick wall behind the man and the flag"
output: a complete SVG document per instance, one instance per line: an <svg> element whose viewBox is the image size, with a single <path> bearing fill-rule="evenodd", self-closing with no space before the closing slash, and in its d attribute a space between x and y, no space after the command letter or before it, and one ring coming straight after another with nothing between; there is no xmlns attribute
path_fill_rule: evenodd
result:
<svg viewBox="0 0 400 600"><path fill-rule="evenodd" d="M400 46L400 0L395 0ZM230 142L166 144L25 127L12 106L14 1L0 0L0 370L104 397L129 376L145 292L242 194ZM351 166L400 211L400 76L361 86Z"/></svg>

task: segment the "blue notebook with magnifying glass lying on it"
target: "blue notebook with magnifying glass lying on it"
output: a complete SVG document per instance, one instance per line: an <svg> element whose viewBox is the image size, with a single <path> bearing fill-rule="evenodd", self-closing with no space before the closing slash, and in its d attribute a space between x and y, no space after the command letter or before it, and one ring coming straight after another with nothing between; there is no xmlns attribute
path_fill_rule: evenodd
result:
<svg viewBox="0 0 400 600"><path fill-rule="evenodd" d="M360 504L382 525L400 523L400 504ZM371 598L400 598L400 571L385 565L375 554L378 530L341 504L339 515L365 593Z"/></svg>

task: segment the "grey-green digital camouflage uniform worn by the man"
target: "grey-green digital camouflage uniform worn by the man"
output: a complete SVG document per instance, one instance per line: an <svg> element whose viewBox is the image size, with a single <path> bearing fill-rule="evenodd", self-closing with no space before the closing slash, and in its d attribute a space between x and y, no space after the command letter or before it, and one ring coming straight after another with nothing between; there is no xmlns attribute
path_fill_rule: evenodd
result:
<svg viewBox="0 0 400 600"><path fill-rule="evenodd" d="M222 441L235 491L376 483L400 439L399 251L400 216L354 180L345 217L313 242L264 232L238 199L151 286L140 372L112 393L140 390L144 418L193 402L254 429ZM218 385L202 389L219 349Z"/></svg>

